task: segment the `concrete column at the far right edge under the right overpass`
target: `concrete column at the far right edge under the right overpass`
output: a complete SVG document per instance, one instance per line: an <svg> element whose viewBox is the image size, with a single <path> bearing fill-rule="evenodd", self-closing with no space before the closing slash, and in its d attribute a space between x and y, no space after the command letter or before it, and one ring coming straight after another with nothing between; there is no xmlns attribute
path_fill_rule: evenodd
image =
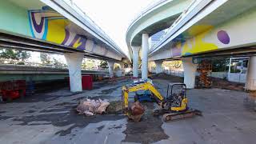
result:
<svg viewBox="0 0 256 144"><path fill-rule="evenodd" d="M256 90L256 56L251 56L249 59L246 75L246 90Z"/></svg>

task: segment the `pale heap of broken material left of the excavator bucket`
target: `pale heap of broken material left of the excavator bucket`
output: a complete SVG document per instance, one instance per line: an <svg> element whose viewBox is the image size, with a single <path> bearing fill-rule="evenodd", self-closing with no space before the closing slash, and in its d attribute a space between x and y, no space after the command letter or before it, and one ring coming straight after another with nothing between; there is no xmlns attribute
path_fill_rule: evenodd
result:
<svg viewBox="0 0 256 144"><path fill-rule="evenodd" d="M92 116L94 114L102 114L106 112L106 107L110 105L110 102L107 100L91 100L87 99L86 101L81 101L78 104L77 111L78 114L86 114L86 116Z"/></svg>

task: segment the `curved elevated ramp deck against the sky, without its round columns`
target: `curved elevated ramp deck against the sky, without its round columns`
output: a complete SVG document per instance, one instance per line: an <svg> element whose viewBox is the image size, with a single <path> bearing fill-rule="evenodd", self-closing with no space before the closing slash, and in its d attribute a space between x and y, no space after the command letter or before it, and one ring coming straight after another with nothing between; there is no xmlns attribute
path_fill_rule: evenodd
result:
<svg viewBox="0 0 256 144"><path fill-rule="evenodd" d="M131 22L126 32L126 43L132 55L132 46L142 46L142 34L150 36L169 28L193 0L162 0L143 10Z"/></svg>

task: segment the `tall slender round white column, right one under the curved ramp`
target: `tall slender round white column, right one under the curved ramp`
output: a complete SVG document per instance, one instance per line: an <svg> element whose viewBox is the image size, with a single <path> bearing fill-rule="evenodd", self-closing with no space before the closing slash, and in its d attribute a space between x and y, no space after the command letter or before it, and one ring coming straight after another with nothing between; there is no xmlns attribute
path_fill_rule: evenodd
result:
<svg viewBox="0 0 256 144"><path fill-rule="evenodd" d="M149 34L142 34L142 79L147 79L148 73L148 52L149 52Z"/></svg>

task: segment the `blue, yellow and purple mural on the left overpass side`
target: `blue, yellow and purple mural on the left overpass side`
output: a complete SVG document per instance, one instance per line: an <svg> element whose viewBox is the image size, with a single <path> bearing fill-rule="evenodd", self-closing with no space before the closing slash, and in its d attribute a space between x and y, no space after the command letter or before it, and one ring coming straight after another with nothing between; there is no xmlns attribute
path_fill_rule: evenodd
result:
<svg viewBox="0 0 256 144"><path fill-rule="evenodd" d="M30 30L34 38L86 50L87 38L70 30L72 23L49 6L28 11Z"/></svg>

